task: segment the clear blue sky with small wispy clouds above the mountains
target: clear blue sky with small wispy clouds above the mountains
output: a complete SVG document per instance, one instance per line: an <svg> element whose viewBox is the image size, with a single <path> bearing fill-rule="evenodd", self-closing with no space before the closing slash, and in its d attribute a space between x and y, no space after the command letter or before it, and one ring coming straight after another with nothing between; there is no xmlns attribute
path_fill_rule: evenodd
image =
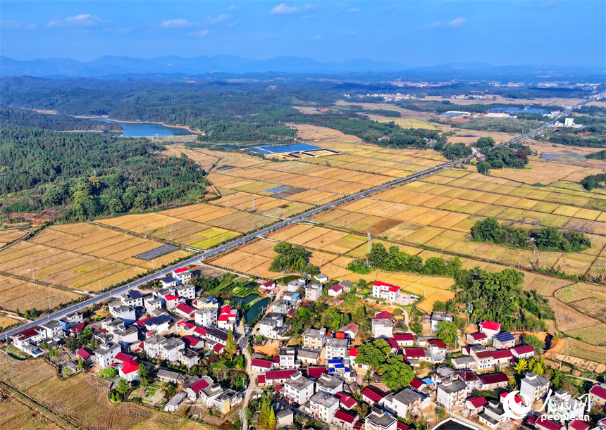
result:
<svg viewBox="0 0 606 430"><path fill-rule="evenodd" d="M606 61L606 2L10 1L1 54L19 60L233 54L590 65Z"/></svg>

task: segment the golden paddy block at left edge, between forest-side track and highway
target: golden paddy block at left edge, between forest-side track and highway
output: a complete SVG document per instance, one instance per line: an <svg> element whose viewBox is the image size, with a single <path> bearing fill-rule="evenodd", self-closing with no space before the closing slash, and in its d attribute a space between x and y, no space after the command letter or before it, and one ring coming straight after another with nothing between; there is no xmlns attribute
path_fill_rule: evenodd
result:
<svg viewBox="0 0 606 430"><path fill-rule="evenodd" d="M54 308L80 297L74 291L99 291L188 254L132 257L159 245L88 223L48 227L0 251L0 306L45 309L50 300Z"/></svg>

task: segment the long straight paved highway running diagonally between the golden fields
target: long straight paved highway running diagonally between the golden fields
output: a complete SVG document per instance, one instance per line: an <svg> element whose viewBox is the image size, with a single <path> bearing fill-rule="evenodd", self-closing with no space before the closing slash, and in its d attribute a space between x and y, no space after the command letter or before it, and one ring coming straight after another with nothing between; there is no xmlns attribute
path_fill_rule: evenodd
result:
<svg viewBox="0 0 606 430"><path fill-rule="evenodd" d="M564 113L562 113L562 115L559 115L557 118L555 118L555 120L553 120L551 122L548 122L547 124L545 124L545 125L543 125L541 127L538 127L538 129L534 129L531 132L523 134L520 137L516 137L515 139L507 141L507 142L505 142L502 145L503 146L507 146L507 144L514 143L516 141L524 139L525 137L531 136L532 134L540 132L540 130L545 129L545 127L548 127L549 125L551 125L552 123L554 123L559 118L562 118L563 116L568 115L574 108L583 106L585 103L588 103L591 100L592 99L588 99L586 101L583 101L582 103L579 103L578 105L576 105L576 106L574 106L572 108L569 108ZM54 312L53 314L51 314L51 315L49 315L47 317L41 318L41 319L39 319L37 321L28 322L27 324L24 324L24 325L22 325L20 327L17 327L16 329L11 329L9 331L6 331L3 334L0 334L0 339L3 339L3 338L6 339L6 338L8 338L8 336L13 336L13 334L18 333L19 331L22 331L22 330L25 330L25 329L29 329L30 327L34 327L35 325L40 324L40 323L45 322L45 321L48 321L50 319L58 320L59 318L66 316L70 312L75 312L76 310L82 310L82 309L86 308L89 305L92 305L92 304L97 303L99 301L104 301L104 300L110 298L111 296L119 296L121 293L124 293L125 291L127 291L129 289L136 288L137 286L145 284L145 283L151 281L152 279L156 279L156 278L159 278L159 277L166 276L166 274L172 272L173 270L177 269L178 267L183 267L185 265L190 265L190 264L197 264L197 263L199 263L199 261L201 259L209 258L212 255L223 253L223 251L226 251L229 248L233 248L234 246L240 246L242 244L245 244L245 242L251 241L256 236L261 236L261 235L273 232L274 230L282 229L282 228L286 227L287 225L292 224L293 222L297 222L299 220L302 220L303 218L307 218L307 217L311 217L313 215L317 215L317 214L319 214L321 212L324 212L325 210L330 210L330 209L334 208L335 206L342 205L343 203L347 203L349 201L355 200L356 198L368 196L369 194L376 193L377 191L381 191L383 189L388 189L388 188L390 188L390 186L404 184L405 182L410 182L410 181L413 181L414 179L419 179L419 177L423 177L425 175L431 175L431 173L438 172L438 171L443 170L443 169L445 169L447 167L450 167L451 165L454 165L454 164L457 164L457 163L462 163L466 159L468 159L468 158L461 158L460 160L452 161L450 163L446 163L446 164L440 165L438 167L433 167L432 169L425 170L424 172L416 173L415 175L403 177L403 178L400 178L400 179L396 179L395 181L388 182L387 184L375 186L375 187L373 187L371 189L367 189L366 191L359 191L356 194L351 194L350 196L345 196L343 198L340 198L337 201L334 201L333 203L328 203L328 204L323 205L323 206L321 206L319 208L309 210L306 213L302 213L301 215L297 215L295 217L288 218L287 220L280 221L277 224L271 225L269 227L265 227L264 229L261 229L258 232L255 232L255 233L252 233L252 234L247 234L247 236L243 236L240 239L235 239L233 241L230 241L228 244L217 246L216 248L213 248L213 249L211 249L209 251L204 251L204 253L199 254L199 255L195 255L194 257L188 258L187 260L184 260L184 261L182 261L182 262L180 262L180 263L178 263L176 265L172 265L170 267L166 267L165 269L159 270L159 271L154 272L152 274L148 274L147 276L142 277L141 279L137 279L136 281L131 282L130 284L127 284L127 285L124 285L124 286L120 286L119 288L114 289L112 291L109 291L107 293L99 294L99 295L94 296L92 298L89 298L89 299L87 299L85 301L82 301L80 303L72 305L72 306L70 306L68 308L65 308L63 310L59 310L58 312Z"/></svg>

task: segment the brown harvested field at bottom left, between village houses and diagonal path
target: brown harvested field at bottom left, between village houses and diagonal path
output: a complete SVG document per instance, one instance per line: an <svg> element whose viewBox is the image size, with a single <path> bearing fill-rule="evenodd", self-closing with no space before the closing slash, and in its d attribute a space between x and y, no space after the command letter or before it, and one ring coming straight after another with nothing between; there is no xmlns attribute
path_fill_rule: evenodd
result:
<svg viewBox="0 0 606 430"><path fill-rule="evenodd" d="M37 402L57 415L75 422L80 428L129 430L148 428L147 422L151 424L149 428L158 428L162 424L161 428L174 430L206 428L187 419L175 415L167 416L132 403L111 404L106 395L109 383L92 375L78 374L60 380L56 377L54 367L42 360L26 360L19 362L18 366L15 363L15 360L2 355L0 379L23 390ZM1 419L4 419L4 415L1 416Z"/></svg>

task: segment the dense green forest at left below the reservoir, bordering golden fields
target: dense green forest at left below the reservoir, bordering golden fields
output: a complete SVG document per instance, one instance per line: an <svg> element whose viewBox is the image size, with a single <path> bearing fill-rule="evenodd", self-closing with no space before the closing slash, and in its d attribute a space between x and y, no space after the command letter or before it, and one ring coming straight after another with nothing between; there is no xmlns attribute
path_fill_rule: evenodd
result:
<svg viewBox="0 0 606 430"><path fill-rule="evenodd" d="M202 197L204 170L185 156L158 156L162 149L147 139L2 126L1 215L62 207L68 219L85 219Z"/></svg>

